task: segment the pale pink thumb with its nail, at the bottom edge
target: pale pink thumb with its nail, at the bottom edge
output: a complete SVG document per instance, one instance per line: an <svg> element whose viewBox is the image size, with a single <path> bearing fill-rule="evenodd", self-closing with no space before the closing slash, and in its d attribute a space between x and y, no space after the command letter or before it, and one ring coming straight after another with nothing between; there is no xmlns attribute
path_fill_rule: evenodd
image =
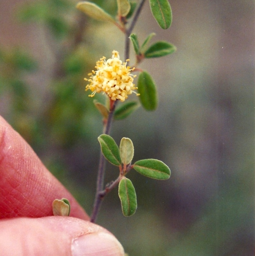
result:
<svg viewBox="0 0 255 256"><path fill-rule="evenodd" d="M0 221L5 256L123 256L120 242L106 229L73 217L14 218Z"/></svg>

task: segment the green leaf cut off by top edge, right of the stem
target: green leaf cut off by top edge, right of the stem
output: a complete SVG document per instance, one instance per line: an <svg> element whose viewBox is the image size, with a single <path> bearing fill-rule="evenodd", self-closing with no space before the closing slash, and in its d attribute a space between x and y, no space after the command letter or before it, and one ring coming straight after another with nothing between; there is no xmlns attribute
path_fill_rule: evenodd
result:
<svg viewBox="0 0 255 256"><path fill-rule="evenodd" d="M172 23L172 10L168 0L149 0L150 9L158 25L167 29Z"/></svg>

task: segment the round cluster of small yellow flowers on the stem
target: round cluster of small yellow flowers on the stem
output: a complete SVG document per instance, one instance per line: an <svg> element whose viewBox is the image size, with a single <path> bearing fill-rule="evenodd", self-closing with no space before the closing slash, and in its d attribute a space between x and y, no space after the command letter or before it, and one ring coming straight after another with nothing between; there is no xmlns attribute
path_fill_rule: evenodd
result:
<svg viewBox="0 0 255 256"><path fill-rule="evenodd" d="M119 52L115 50L112 58L106 60L106 57L103 57L98 60L95 66L97 70L92 70L90 79L84 78L90 82L85 89L92 91L89 97L94 97L97 92L105 92L111 100L125 101L128 95L137 89L133 84L136 75L131 74L135 68L130 69L127 62L122 63Z"/></svg>

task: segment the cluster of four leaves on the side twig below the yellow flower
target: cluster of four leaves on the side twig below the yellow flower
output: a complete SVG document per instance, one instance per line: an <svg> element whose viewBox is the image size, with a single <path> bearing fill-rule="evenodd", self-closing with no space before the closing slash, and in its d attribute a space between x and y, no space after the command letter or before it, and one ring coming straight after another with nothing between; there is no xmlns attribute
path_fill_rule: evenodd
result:
<svg viewBox="0 0 255 256"><path fill-rule="evenodd" d="M138 173L157 180L166 180L170 177L170 169L162 161L157 159L142 159L132 164L134 157L134 145L131 139L123 137L120 146L114 139L106 134L98 137L104 157L113 165L118 166L120 170L117 182L119 182L119 198L122 212L125 216L131 216L137 208L136 193L133 183L128 179L126 174L135 169ZM112 182L106 191L113 189L117 182ZM113 185L114 184L114 185Z"/></svg>

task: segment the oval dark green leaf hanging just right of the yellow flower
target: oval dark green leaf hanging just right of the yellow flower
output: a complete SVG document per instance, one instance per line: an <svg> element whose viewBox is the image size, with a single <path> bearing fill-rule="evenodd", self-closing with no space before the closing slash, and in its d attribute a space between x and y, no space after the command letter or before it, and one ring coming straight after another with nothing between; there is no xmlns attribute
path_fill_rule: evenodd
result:
<svg viewBox="0 0 255 256"><path fill-rule="evenodd" d="M150 74L146 71L141 72L138 77L137 87L142 106L146 110L155 110L157 108L157 90Z"/></svg>

